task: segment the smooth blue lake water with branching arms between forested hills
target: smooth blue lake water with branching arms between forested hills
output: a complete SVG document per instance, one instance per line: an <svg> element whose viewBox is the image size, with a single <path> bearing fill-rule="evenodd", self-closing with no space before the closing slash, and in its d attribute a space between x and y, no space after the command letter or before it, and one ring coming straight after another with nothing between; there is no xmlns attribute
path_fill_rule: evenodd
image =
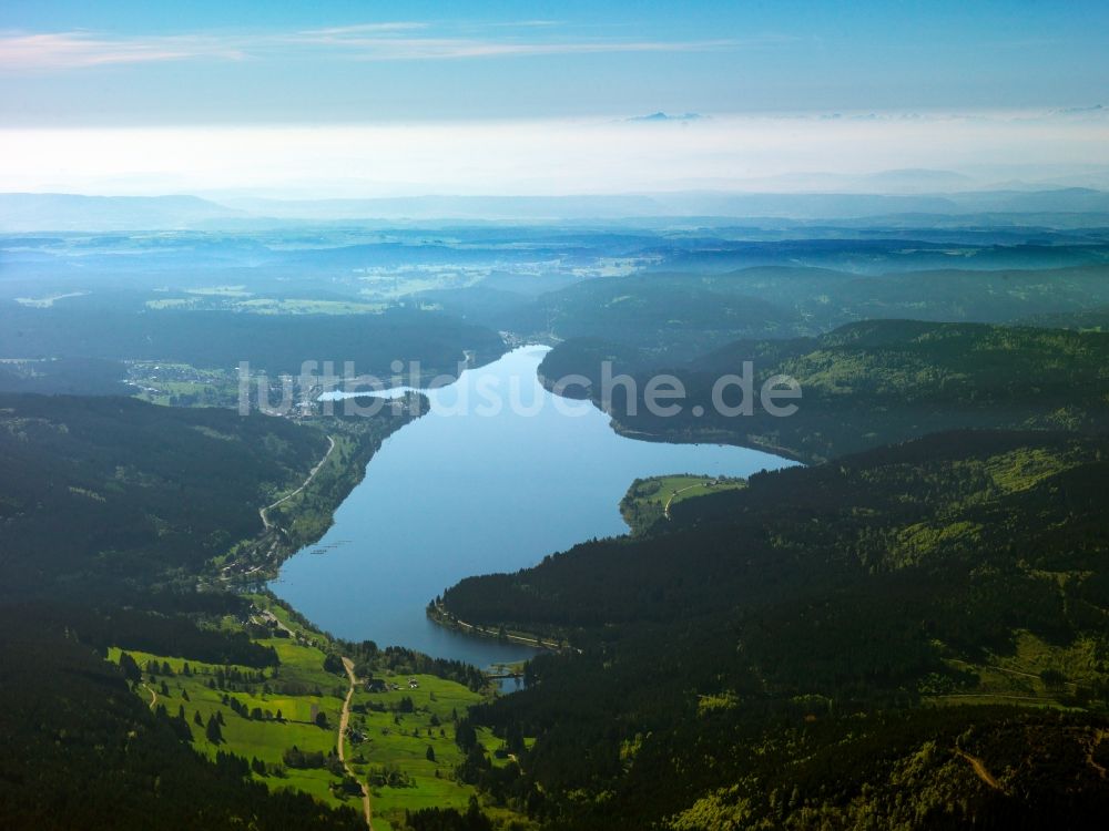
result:
<svg viewBox="0 0 1109 831"><path fill-rule="evenodd" d="M743 448L618 435L587 402L542 388L536 369L547 351L517 349L429 391L429 412L385 441L326 536L286 561L271 588L344 638L480 667L518 660L532 650L445 630L426 618L427 603L462 577L625 533L619 503L637 476L746 476L792 464ZM334 547L308 553L321 546Z"/></svg>

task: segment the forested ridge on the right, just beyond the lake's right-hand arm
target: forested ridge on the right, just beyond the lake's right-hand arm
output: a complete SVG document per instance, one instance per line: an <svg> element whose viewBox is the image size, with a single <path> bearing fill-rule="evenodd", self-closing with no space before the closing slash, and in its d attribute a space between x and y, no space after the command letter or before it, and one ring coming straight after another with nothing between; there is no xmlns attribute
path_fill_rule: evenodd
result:
<svg viewBox="0 0 1109 831"><path fill-rule="evenodd" d="M603 361L611 361L613 377L627 372L637 381L638 400L612 386L607 410L618 429L667 441L766 447L805 461L954 428L1109 429L1109 336L1101 332L877 320L816 338L736 341L684 363L651 363L634 348L580 339L556 347L540 372L548 387L584 376L600 406ZM714 384L743 375L745 361L753 369L752 412L722 412ZM653 416L644 406L648 381L659 373L673 375L685 389L674 416ZM759 401L763 383L779 375L801 386L800 399L781 402L797 406L788 417ZM732 408L742 396L735 382L722 391Z"/></svg>

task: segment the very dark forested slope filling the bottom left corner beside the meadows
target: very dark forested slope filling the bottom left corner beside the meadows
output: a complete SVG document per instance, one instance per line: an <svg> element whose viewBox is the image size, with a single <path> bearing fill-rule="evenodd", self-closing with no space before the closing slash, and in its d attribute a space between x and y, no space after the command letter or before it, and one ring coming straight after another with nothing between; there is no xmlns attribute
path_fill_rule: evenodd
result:
<svg viewBox="0 0 1109 831"><path fill-rule="evenodd" d="M152 712L57 611L0 607L0 825L365 829L354 810L269 793L236 757L204 759L181 740L189 725Z"/></svg>

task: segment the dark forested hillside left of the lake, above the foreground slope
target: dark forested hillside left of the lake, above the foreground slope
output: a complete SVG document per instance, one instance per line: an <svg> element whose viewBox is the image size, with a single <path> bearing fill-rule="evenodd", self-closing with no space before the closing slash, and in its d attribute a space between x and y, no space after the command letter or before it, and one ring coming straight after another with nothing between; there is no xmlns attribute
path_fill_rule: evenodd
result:
<svg viewBox="0 0 1109 831"><path fill-rule="evenodd" d="M196 573L327 450L319 430L125 398L0 396L7 598Z"/></svg>

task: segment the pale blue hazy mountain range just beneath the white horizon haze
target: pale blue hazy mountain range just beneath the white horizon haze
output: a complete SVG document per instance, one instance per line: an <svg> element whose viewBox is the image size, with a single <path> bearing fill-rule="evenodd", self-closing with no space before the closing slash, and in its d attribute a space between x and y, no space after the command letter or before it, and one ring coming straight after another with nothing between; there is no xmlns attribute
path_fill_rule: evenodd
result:
<svg viewBox="0 0 1109 831"><path fill-rule="evenodd" d="M974 217L1027 215L1049 224L1047 215L1087 217L1078 224L1109 223L1109 192L1055 189L957 191L963 177L943 171L891 171L874 174L876 187L905 189L930 182L932 193L724 193L686 191L584 196L414 196L372 199L285 201L235 198L213 202L196 196L82 196L0 194L0 232L215 229L336 222L617 222L621 219L776 219L785 222L891 220L914 215ZM944 187L953 188L943 192Z"/></svg>

